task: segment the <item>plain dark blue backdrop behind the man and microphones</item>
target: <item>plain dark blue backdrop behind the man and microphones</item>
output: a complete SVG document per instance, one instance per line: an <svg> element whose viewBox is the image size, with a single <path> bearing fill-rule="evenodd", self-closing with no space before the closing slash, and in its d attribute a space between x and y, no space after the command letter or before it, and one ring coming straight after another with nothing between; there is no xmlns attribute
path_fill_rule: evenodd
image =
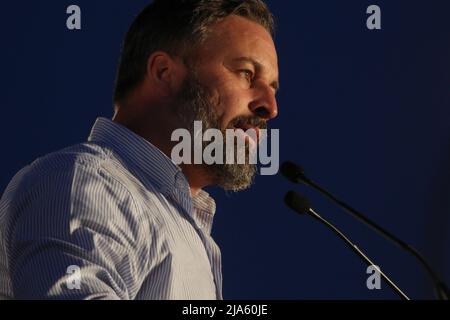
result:
<svg viewBox="0 0 450 320"><path fill-rule="evenodd" d="M0 189L35 158L84 141L112 116L123 36L139 1L8 1L0 10ZM450 3L269 1L277 17L281 158L412 244L450 282ZM82 30L66 28L66 8ZM381 31L365 27L382 9ZM295 186L258 177L212 190L227 299L396 299L366 288L366 267L322 225L283 205ZM413 298L433 298L409 255L305 187Z"/></svg>

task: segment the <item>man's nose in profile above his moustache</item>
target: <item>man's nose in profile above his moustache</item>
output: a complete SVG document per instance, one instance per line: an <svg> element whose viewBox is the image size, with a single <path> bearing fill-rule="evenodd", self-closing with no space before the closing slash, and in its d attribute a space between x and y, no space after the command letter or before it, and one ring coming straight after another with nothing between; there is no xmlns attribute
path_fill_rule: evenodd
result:
<svg viewBox="0 0 450 320"><path fill-rule="evenodd" d="M267 84L255 86L256 98L250 104L250 110L256 116L268 121L278 116L278 105L275 91Z"/></svg>

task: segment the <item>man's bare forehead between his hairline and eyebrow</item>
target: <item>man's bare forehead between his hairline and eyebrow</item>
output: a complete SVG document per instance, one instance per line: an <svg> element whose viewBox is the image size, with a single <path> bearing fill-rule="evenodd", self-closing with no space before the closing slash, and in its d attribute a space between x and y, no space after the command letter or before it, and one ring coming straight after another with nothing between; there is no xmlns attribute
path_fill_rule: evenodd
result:
<svg viewBox="0 0 450 320"><path fill-rule="evenodd" d="M252 57L273 76L278 76L272 36L263 26L243 17L232 15L214 25L199 54L206 61Z"/></svg>

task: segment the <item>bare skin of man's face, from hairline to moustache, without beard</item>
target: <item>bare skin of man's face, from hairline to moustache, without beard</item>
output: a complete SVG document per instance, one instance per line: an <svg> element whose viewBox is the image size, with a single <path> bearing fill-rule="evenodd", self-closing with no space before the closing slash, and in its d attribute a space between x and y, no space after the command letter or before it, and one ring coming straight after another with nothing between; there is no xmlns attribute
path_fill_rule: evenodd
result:
<svg viewBox="0 0 450 320"><path fill-rule="evenodd" d="M217 102L214 108L221 129L238 117L266 122L277 116L277 53L264 27L229 16L213 27L196 61L198 80Z"/></svg>

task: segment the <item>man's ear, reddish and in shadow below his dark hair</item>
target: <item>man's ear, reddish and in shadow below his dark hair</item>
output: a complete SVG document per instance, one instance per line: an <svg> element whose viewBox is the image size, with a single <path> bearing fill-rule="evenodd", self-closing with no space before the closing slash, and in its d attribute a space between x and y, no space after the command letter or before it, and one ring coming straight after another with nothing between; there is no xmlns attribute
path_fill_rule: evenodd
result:
<svg viewBox="0 0 450 320"><path fill-rule="evenodd" d="M163 51L153 53L147 61L147 77L153 88L164 96L178 91L186 70L179 58L173 58Z"/></svg>

